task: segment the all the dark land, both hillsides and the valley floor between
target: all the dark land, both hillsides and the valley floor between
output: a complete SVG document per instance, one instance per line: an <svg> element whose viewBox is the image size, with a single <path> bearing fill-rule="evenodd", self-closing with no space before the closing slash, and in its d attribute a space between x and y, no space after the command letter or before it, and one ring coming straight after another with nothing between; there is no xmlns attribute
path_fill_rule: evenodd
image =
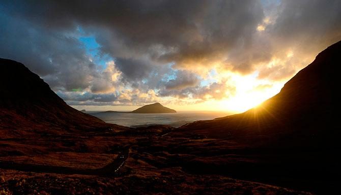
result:
<svg viewBox="0 0 341 195"><path fill-rule="evenodd" d="M104 123L1 59L0 194L340 194L340 53L258 108L180 128Z"/></svg>

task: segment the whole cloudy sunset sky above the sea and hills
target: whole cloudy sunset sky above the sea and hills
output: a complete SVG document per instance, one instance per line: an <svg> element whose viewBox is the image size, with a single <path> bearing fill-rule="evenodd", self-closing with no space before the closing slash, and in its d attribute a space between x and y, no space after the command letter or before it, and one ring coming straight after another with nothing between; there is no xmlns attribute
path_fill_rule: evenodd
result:
<svg viewBox="0 0 341 195"><path fill-rule="evenodd" d="M76 109L238 113L341 39L341 1L0 0L0 26L0 57Z"/></svg>

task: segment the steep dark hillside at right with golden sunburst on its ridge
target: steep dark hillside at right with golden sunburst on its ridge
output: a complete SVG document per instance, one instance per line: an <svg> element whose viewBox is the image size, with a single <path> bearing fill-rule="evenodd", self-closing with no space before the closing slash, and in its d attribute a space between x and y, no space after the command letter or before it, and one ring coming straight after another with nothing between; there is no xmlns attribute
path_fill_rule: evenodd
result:
<svg viewBox="0 0 341 195"><path fill-rule="evenodd" d="M261 106L244 113L197 121L178 132L214 138L230 138L279 147L321 147L335 142L338 74L341 42L322 51L316 59L288 81L281 91Z"/></svg>

